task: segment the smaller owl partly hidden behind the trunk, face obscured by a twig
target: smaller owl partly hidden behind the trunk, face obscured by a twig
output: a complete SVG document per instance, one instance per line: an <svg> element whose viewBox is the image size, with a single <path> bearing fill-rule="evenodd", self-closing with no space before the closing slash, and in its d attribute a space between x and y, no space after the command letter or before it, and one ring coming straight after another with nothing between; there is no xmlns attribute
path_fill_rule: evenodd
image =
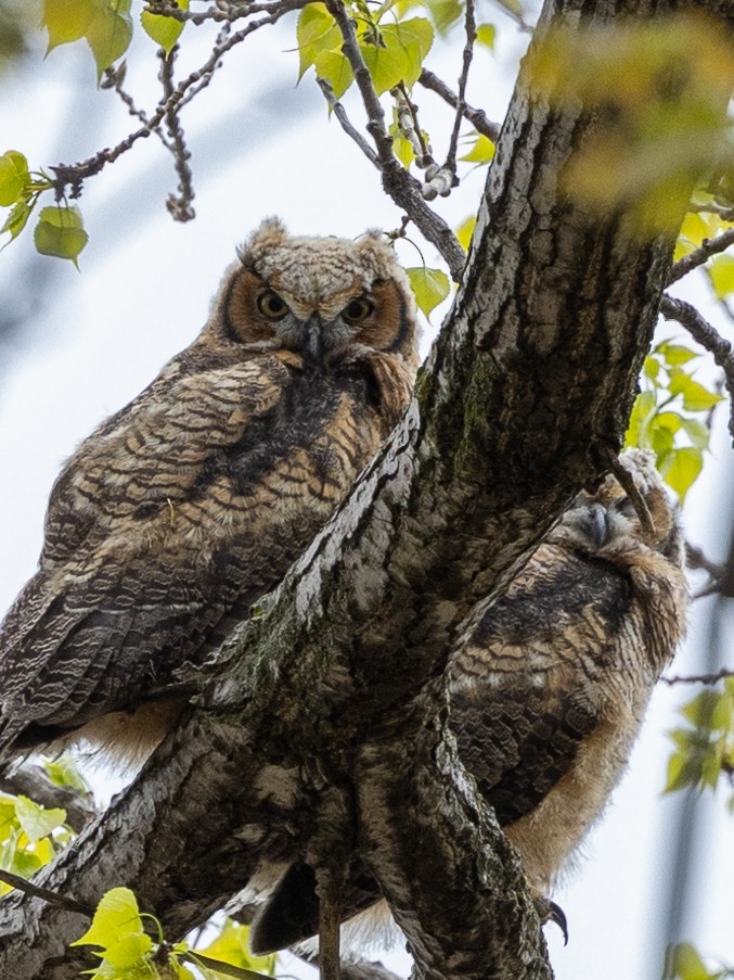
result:
<svg viewBox="0 0 734 980"><path fill-rule="evenodd" d="M448 670L460 758L542 900L619 781L685 628L678 516L652 454L634 450L621 462L654 531L643 531L611 475L595 493L579 494ZM306 863L285 873L254 922L256 952L316 933L314 880ZM355 874L345 916L376 894L366 873ZM343 927L343 943L359 945L386 929L382 902Z"/></svg>

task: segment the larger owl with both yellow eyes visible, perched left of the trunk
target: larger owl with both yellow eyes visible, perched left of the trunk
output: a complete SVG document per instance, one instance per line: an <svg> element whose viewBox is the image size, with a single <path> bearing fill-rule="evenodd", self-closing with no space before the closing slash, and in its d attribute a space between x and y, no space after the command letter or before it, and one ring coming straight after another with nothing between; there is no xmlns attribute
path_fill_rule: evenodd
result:
<svg viewBox="0 0 734 980"><path fill-rule="evenodd" d="M76 730L154 748L179 669L278 584L398 421L416 339L376 232L261 225L196 340L55 482L0 636L0 761Z"/></svg>

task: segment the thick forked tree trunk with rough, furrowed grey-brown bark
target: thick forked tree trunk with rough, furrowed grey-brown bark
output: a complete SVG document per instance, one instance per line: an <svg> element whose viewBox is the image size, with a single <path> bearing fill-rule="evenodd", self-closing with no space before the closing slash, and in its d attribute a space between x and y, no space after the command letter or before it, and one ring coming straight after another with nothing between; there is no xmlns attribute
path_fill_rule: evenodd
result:
<svg viewBox="0 0 734 980"><path fill-rule="evenodd" d="M723 0L700 10L731 9ZM552 0L542 24L675 4ZM558 173L588 139L524 73L452 311L413 404L191 716L40 876L95 904L127 884L170 941L263 862L359 858L430 980L551 976L517 858L447 736L451 649L620 447L672 241L592 220ZM0 903L0 975L66 980L76 913Z"/></svg>

